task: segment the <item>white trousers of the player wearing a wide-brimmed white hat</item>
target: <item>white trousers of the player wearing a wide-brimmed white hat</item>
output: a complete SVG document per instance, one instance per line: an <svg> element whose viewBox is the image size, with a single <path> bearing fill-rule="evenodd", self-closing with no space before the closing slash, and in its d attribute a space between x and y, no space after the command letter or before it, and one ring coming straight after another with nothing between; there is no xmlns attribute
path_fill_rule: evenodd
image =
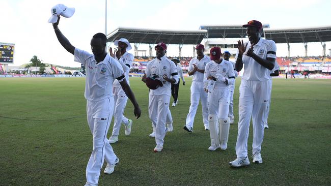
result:
<svg viewBox="0 0 331 186"><path fill-rule="evenodd" d="M113 88L115 110L114 110L114 127L113 135L119 135L122 122L125 124L129 123L128 118L126 118L123 113L128 101L128 97L125 95L121 86L115 86Z"/></svg>

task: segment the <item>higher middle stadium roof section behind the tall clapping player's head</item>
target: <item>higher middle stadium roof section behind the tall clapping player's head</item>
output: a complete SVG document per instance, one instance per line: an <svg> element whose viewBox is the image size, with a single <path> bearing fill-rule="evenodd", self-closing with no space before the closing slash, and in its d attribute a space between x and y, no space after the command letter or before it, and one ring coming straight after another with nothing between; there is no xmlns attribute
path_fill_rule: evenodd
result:
<svg viewBox="0 0 331 186"><path fill-rule="evenodd" d="M263 24L262 27L269 28L269 24ZM246 36L246 28L242 25L202 25L200 29L208 31L206 38L244 38Z"/></svg>

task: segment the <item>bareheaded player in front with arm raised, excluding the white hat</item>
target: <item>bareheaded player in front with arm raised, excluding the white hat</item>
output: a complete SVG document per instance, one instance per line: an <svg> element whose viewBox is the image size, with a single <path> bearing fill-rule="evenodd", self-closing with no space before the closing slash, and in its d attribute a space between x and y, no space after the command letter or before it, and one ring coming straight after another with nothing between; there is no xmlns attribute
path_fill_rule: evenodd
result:
<svg viewBox="0 0 331 186"><path fill-rule="evenodd" d="M74 60L86 68L85 98L87 99L87 119L93 135L93 151L86 168L86 186L98 185L103 161L108 163L104 173L114 172L119 159L108 143L106 134L114 112L113 82L117 79L127 97L134 106L134 115L139 118L141 110L135 101L134 94L125 80L120 64L106 52L106 36L97 33L91 40L92 53L75 48L58 28L58 21L53 23L54 32L61 45L71 54Z"/></svg>

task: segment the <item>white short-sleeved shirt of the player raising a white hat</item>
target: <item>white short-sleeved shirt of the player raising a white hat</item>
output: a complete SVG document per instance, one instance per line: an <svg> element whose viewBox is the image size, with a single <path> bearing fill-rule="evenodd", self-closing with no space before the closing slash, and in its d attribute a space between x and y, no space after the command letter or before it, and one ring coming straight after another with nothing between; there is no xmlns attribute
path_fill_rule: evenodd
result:
<svg viewBox="0 0 331 186"><path fill-rule="evenodd" d="M85 98L89 101L100 101L113 97L114 79L125 78L121 65L109 54L97 64L93 54L75 48L74 61L85 66Z"/></svg>

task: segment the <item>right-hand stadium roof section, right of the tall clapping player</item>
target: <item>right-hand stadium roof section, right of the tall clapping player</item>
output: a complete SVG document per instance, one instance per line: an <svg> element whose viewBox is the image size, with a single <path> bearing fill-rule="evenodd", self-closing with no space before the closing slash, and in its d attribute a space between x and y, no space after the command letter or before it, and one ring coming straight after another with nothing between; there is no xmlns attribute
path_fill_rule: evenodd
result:
<svg viewBox="0 0 331 186"><path fill-rule="evenodd" d="M275 43L309 43L331 41L331 26L264 29L266 39Z"/></svg>

